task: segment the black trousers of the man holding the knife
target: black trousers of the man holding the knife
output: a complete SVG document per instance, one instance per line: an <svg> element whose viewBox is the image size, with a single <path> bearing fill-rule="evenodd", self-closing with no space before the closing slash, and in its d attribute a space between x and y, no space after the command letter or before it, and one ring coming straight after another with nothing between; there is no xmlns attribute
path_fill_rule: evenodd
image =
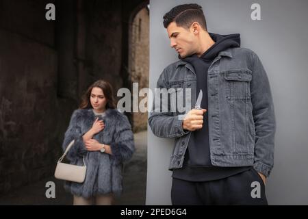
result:
<svg viewBox="0 0 308 219"><path fill-rule="evenodd" d="M260 196L255 197L258 188ZM171 200L172 205L268 205L264 182L253 168L214 181L173 178Z"/></svg>

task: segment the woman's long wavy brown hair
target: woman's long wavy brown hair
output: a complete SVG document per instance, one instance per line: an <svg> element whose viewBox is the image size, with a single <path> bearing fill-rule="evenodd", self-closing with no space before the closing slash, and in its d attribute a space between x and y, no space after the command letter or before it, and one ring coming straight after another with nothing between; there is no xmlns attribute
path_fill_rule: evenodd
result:
<svg viewBox="0 0 308 219"><path fill-rule="evenodd" d="M90 96L93 88L101 88L101 90L103 90L105 99L107 99L106 110L116 108L112 85L107 81L99 80L92 83L84 95L81 96L80 109L92 108Z"/></svg>

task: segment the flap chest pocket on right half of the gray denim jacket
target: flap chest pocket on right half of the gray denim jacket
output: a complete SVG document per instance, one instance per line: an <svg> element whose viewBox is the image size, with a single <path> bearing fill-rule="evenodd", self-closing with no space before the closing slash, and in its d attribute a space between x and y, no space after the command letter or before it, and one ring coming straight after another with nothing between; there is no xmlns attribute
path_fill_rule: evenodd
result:
<svg viewBox="0 0 308 219"><path fill-rule="evenodd" d="M251 70L229 70L224 73L224 91L228 101L248 101L251 99Z"/></svg>

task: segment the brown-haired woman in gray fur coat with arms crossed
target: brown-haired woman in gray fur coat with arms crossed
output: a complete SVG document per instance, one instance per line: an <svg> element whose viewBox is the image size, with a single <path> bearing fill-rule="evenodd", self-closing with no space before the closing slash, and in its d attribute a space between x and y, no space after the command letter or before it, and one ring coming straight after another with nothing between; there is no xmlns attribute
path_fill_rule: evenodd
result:
<svg viewBox="0 0 308 219"><path fill-rule="evenodd" d="M72 140L70 163L81 166L84 158L87 166L84 183L64 184L74 205L112 205L114 194L123 190L123 162L131 158L135 146L127 117L115 109L110 83L99 80L88 88L70 118L62 148Z"/></svg>

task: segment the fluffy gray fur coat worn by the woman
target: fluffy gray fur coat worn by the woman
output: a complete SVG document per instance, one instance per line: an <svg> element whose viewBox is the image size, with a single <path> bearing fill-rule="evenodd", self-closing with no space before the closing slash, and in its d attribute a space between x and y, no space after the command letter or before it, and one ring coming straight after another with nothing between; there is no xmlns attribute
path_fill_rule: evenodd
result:
<svg viewBox="0 0 308 219"><path fill-rule="evenodd" d="M70 164L82 165L85 158L87 172L84 183L66 181L64 188L76 196L85 198L101 194L113 193L120 195L122 187L123 162L129 160L135 151L133 132L127 117L118 110L105 111L105 129L93 138L100 143L110 144L112 154L100 151L86 151L82 136L94 123L92 109L75 110L70 118L70 124L64 136L62 149L75 140L68 154Z"/></svg>

